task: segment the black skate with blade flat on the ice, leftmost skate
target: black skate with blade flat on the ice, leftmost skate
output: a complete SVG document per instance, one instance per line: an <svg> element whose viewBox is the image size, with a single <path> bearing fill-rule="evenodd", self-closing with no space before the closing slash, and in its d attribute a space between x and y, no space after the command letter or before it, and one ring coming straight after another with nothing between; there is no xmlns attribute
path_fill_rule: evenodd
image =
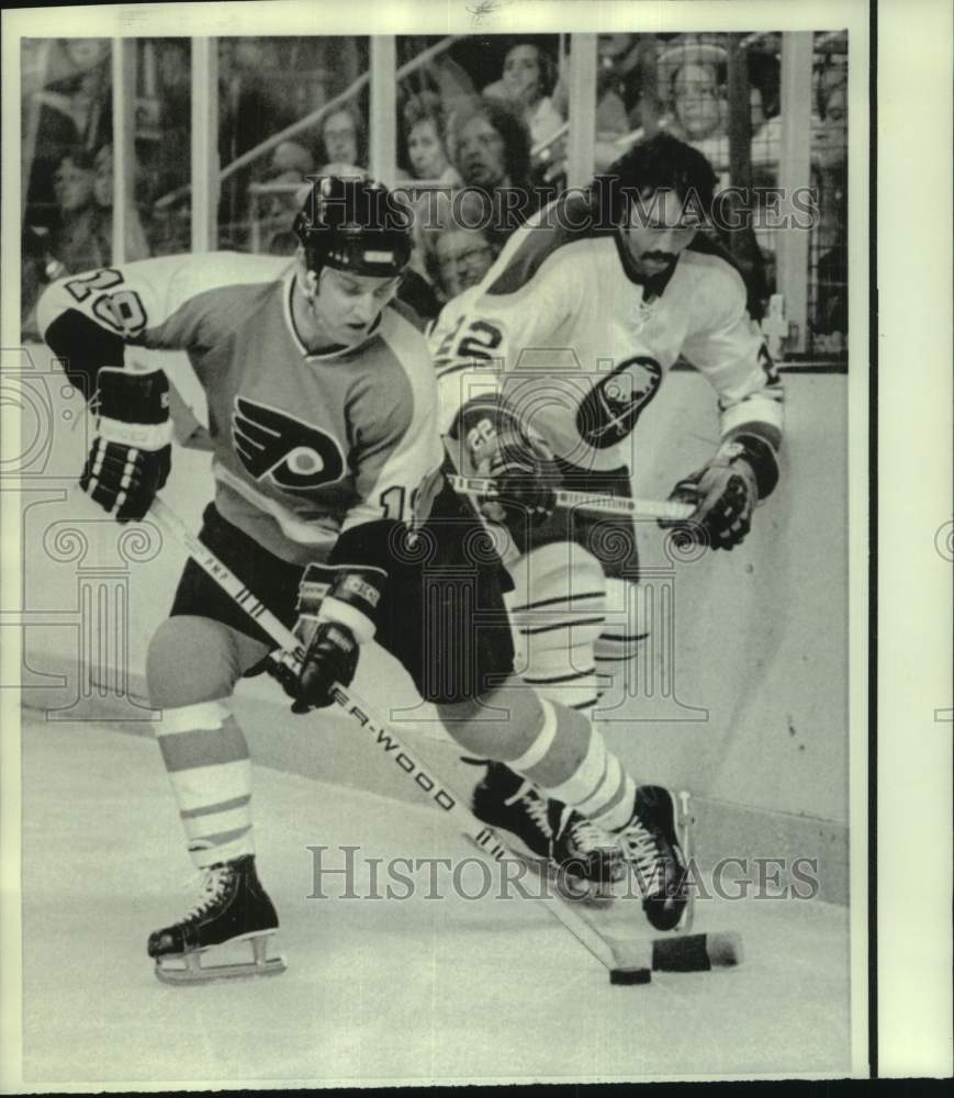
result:
<svg viewBox="0 0 954 1098"><path fill-rule="evenodd" d="M179 922L149 934L146 949L155 957L156 976L166 984L204 984L284 972L281 957L267 955L268 940L278 930L278 915L255 872L255 855L220 862L203 874L203 892L195 907ZM251 961L202 964L202 954L213 946L243 943L251 944Z"/></svg>

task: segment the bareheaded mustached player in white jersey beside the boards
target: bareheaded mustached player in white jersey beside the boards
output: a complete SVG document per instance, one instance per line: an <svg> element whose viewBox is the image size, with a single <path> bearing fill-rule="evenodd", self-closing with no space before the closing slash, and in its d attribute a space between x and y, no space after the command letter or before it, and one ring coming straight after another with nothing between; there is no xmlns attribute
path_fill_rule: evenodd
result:
<svg viewBox="0 0 954 1098"><path fill-rule="evenodd" d="M712 549L742 541L778 478L783 392L741 276L699 232L715 182L700 153L659 134L531 219L481 284L448 303L430 344L441 427L462 440L468 472L518 468L506 446L516 428L546 440L560 486L629 496L633 430L682 355L715 390L722 437L672 497L695 508L686 536ZM484 511L503 516L500 502ZM635 526L583 511L536 526L516 509L507 518L518 670L592 714L601 677L646 638ZM672 796L659 797L672 815ZM532 836L541 818L560 818L540 799L491 763L474 809Z"/></svg>

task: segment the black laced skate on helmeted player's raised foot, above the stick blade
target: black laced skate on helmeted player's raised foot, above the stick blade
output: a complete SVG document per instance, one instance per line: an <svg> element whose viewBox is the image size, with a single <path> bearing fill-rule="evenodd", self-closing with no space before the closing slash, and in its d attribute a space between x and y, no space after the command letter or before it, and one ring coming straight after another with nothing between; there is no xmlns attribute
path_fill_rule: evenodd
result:
<svg viewBox="0 0 954 1098"><path fill-rule="evenodd" d="M687 793L680 794L677 806L663 786L641 785L630 821L617 832L642 909L656 930L688 930L692 923L689 826Z"/></svg>

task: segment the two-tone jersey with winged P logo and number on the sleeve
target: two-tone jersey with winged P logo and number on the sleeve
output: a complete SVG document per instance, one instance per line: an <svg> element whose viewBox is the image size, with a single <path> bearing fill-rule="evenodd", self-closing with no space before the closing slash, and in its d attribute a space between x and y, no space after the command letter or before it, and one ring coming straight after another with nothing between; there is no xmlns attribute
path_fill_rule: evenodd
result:
<svg viewBox="0 0 954 1098"><path fill-rule="evenodd" d="M270 256L145 259L54 283L38 321L46 335L78 311L120 352L187 351L207 397L218 511L305 563L363 524L412 519L442 451L427 344L400 306L357 347L313 355L292 317L294 272Z"/></svg>

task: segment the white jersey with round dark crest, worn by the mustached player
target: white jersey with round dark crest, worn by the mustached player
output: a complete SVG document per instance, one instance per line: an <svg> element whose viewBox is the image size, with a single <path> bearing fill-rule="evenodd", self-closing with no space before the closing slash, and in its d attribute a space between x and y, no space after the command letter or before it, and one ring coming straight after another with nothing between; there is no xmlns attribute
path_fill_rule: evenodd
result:
<svg viewBox="0 0 954 1098"><path fill-rule="evenodd" d="M519 228L445 306L429 337L441 429L496 392L564 461L631 468L637 421L684 356L715 389L723 435L744 426L777 447L783 391L731 262L700 236L642 280L616 233L587 226L572 201Z"/></svg>

